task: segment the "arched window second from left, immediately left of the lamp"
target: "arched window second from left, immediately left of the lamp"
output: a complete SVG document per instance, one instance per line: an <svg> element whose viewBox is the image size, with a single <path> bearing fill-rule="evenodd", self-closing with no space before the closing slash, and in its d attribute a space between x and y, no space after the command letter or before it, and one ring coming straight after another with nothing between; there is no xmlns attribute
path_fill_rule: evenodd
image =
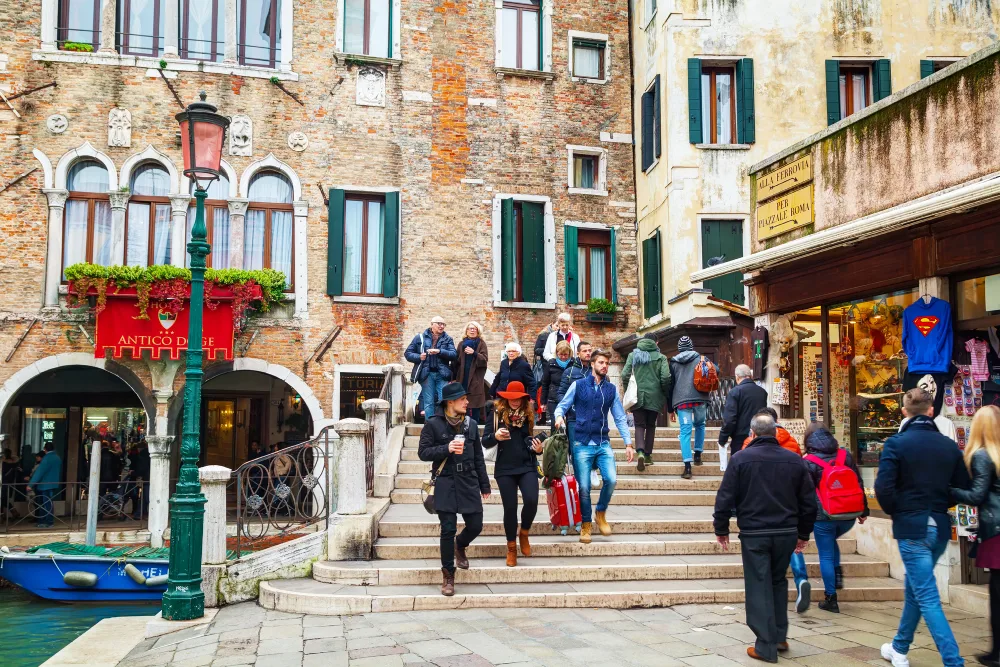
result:
<svg viewBox="0 0 1000 667"><path fill-rule="evenodd" d="M132 172L130 189L125 263L170 264L170 175L155 162L147 162Z"/></svg>

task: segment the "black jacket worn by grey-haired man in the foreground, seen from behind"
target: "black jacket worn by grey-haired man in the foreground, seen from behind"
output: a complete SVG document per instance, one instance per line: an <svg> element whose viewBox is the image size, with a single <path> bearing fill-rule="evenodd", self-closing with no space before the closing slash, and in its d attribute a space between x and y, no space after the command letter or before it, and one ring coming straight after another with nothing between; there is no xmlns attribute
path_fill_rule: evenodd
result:
<svg viewBox="0 0 1000 667"><path fill-rule="evenodd" d="M716 535L729 534L736 510L740 535L798 535L808 540L816 522L816 487L802 459L777 438L754 438L733 454L715 495Z"/></svg>

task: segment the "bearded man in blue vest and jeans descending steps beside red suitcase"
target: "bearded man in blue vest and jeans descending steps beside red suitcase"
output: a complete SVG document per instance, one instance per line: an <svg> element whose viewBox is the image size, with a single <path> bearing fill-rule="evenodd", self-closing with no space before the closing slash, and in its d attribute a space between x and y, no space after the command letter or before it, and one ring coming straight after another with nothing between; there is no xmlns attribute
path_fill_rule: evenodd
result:
<svg viewBox="0 0 1000 667"><path fill-rule="evenodd" d="M556 428L566 423L566 412L576 410L576 433L574 434L573 470L579 477L576 480L580 491L580 541L590 544L590 471L597 464L604 479L601 484L601 497L597 500L597 529L601 535L611 534L604 513L611 504L611 496L615 492L618 474L615 468L615 453L608 439L608 411L615 419L615 427L625 441L625 454L628 462L635 458L632 448L632 434L628 430L628 418L622 407L621 397L614 383L608 380L608 363L610 355L602 350L595 350L590 357L590 367L593 374L577 380L570 385L563 400L556 407Z"/></svg>

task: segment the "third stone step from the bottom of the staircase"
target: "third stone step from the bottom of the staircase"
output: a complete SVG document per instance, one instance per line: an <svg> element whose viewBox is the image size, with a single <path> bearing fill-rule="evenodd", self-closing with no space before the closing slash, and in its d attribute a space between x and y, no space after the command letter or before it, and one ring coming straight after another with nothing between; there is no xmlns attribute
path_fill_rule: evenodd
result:
<svg viewBox="0 0 1000 667"><path fill-rule="evenodd" d="M543 524L544 526L545 524ZM614 524L612 524L612 527ZM531 538L532 558L579 557L579 556L697 556L724 554L712 533L647 533L641 535L613 534L604 537L596 533L590 544L582 544L575 532L560 535L555 531ZM857 551L857 542L852 537L838 540L842 554ZM375 542L375 558L380 560L412 560L440 557L438 537L383 537ZM507 541L502 535L480 536L467 550L469 558L504 558L507 555ZM740 541L734 538L729 544L729 553L740 553ZM816 543L810 540L806 553L816 553ZM632 565L624 561L623 565Z"/></svg>

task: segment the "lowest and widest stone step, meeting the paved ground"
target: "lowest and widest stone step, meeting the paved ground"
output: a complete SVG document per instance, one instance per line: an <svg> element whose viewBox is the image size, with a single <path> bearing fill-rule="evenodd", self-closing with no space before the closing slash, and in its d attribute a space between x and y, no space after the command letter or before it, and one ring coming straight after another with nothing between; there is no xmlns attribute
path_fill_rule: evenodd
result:
<svg viewBox="0 0 1000 667"><path fill-rule="evenodd" d="M422 586L342 586L313 579L275 579L260 584L260 605L296 614L367 614L424 609L498 607L600 607L628 609L675 604L741 603L742 579L588 581L577 583L460 584L444 597L439 584ZM888 578L848 579L837 591L843 602L899 601L903 584ZM789 600L795 591L789 582ZM815 581L813 600L823 599ZM708 664L708 663L706 663Z"/></svg>

